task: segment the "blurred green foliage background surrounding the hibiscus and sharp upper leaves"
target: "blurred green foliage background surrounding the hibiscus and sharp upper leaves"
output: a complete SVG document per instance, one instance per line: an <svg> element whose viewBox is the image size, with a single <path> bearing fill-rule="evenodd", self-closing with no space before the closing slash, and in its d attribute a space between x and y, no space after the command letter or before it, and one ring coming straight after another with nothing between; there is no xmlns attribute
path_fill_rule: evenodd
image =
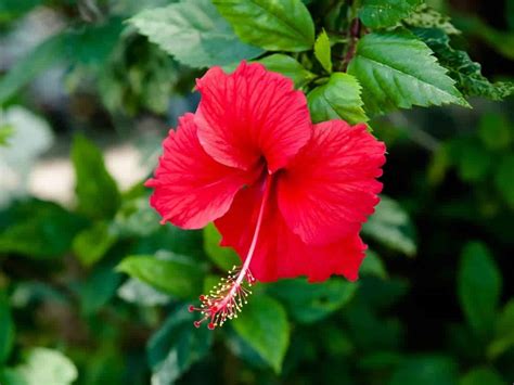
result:
<svg viewBox="0 0 514 385"><path fill-rule="evenodd" d="M372 121L388 161L362 278L256 288L286 311L280 373L258 333L192 326L183 305L234 256L213 228L160 227L142 187L198 101L202 72L124 23L169 2L0 0L0 384L511 384L512 99ZM429 3L513 78L514 1ZM119 267L154 255L202 274L178 292Z"/></svg>

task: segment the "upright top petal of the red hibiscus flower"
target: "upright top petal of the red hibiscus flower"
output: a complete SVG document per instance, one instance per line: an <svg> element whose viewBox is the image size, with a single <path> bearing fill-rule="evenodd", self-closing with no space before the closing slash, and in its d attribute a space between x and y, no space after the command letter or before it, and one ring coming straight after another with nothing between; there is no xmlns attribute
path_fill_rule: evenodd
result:
<svg viewBox="0 0 514 385"><path fill-rule="evenodd" d="M196 86L200 142L223 165L249 169L264 156L273 172L312 134L304 93L261 64L242 62L231 75L214 67Z"/></svg>

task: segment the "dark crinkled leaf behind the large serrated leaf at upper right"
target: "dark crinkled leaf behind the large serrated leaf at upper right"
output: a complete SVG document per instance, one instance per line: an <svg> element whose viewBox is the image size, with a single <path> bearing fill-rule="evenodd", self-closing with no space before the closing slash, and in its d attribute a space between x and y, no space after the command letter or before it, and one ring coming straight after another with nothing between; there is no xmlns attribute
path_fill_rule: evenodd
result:
<svg viewBox="0 0 514 385"><path fill-rule="evenodd" d="M457 81L457 88L468 97L485 97L503 100L514 93L514 84L498 81L491 84L481 75L480 64L473 62L464 51L450 47L450 38L440 29L414 28L413 33L435 53L448 75Z"/></svg>

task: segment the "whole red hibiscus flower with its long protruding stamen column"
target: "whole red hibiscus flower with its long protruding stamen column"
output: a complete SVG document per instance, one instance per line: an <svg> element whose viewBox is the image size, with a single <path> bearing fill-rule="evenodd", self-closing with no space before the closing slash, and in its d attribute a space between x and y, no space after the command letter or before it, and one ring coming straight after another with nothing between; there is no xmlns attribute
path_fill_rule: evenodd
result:
<svg viewBox="0 0 514 385"><path fill-rule="evenodd" d="M284 76L245 62L197 80L202 99L164 142L151 205L183 229L210 221L243 266L200 310L209 328L241 308L254 280L358 278L359 231L378 203L385 145L365 125L312 125L306 98Z"/></svg>

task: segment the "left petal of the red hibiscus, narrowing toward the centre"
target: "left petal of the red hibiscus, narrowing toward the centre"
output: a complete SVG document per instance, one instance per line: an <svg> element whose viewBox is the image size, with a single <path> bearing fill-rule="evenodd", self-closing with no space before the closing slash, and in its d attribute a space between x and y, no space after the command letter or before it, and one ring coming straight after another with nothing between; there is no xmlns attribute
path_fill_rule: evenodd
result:
<svg viewBox="0 0 514 385"><path fill-rule="evenodd" d="M196 131L194 115L184 115L164 142L155 178L145 183L155 189L150 204L162 222L184 229L200 229L224 215L235 193L260 174L217 163L200 145Z"/></svg>

